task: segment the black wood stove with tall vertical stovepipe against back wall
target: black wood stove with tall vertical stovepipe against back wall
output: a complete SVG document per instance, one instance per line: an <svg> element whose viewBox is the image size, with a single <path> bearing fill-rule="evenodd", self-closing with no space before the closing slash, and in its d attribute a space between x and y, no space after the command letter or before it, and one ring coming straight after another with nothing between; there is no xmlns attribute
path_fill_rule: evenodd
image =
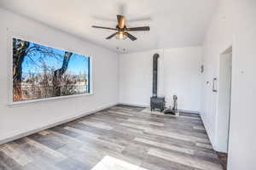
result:
<svg viewBox="0 0 256 170"><path fill-rule="evenodd" d="M150 98L151 111L154 111L154 109L160 109L160 111L164 111L165 105L166 105L165 97L157 96L158 59L159 59L159 54L154 54L153 56L153 96Z"/></svg>

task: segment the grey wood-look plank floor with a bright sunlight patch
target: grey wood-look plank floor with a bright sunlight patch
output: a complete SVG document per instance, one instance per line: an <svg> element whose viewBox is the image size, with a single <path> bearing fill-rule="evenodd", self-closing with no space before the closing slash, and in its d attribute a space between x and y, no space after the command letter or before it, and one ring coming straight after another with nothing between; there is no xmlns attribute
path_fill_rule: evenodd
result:
<svg viewBox="0 0 256 170"><path fill-rule="evenodd" d="M222 169L201 117L117 105L0 145L1 170Z"/></svg>

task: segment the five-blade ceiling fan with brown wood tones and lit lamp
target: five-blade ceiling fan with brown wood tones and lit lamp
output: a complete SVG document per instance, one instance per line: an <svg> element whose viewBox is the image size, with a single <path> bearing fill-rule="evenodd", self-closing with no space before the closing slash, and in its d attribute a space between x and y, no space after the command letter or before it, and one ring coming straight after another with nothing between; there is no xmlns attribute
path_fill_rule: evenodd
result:
<svg viewBox="0 0 256 170"><path fill-rule="evenodd" d="M127 28L125 26L125 16L118 14L117 15L118 25L115 28L103 27L103 26L92 26L93 28L101 28L107 30L117 31L113 33L111 36L106 39L110 39L112 37L116 37L117 39L126 39L126 37L130 38L132 41L137 40L137 37L132 36L128 31L149 31L149 26L140 26L140 27L132 27Z"/></svg>

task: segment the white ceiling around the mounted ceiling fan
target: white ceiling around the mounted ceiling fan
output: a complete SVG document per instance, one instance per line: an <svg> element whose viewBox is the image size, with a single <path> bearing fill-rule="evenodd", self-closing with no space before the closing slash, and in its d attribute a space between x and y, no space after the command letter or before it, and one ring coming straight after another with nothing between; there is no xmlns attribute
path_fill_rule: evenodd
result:
<svg viewBox="0 0 256 170"><path fill-rule="evenodd" d="M1 0L0 6L65 31L88 42L125 53L155 48L201 45L217 0ZM116 14L127 26L150 26L131 32L137 41L106 40L113 31L91 28L116 26ZM117 49L119 47L119 49Z"/></svg>

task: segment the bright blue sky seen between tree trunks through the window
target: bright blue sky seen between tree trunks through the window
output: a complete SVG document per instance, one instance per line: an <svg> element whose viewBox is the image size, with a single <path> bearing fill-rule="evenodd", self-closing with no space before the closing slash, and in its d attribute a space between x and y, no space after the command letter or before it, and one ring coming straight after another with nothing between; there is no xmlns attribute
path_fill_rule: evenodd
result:
<svg viewBox="0 0 256 170"><path fill-rule="evenodd" d="M24 76L29 72L32 74L42 72L43 63L45 63L45 65L47 65L49 68L61 68L63 62L63 55L65 54L65 51L61 49L45 47L43 45L39 45L33 42L30 42L29 48L32 48L35 45L39 46L40 48L51 51L53 54L55 54L56 57L49 54L42 54L38 51L34 51L31 54L27 54L22 63L22 72L24 73ZM84 74L84 72L85 74L88 74L88 61L89 58L85 57L84 55L73 54L69 61L67 71L72 73L73 75L79 75L79 73Z"/></svg>

